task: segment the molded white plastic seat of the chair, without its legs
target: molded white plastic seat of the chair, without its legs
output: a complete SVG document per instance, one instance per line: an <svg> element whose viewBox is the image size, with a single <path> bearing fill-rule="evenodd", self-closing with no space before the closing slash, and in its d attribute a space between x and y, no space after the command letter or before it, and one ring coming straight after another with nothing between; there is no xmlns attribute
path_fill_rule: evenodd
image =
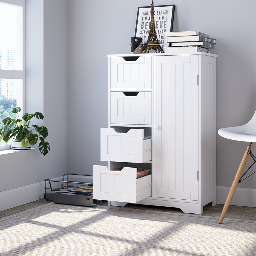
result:
<svg viewBox="0 0 256 256"><path fill-rule="evenodd" d="M221 128L218 133L230 140L256 142L256 111L247 124Z"/></svg>

